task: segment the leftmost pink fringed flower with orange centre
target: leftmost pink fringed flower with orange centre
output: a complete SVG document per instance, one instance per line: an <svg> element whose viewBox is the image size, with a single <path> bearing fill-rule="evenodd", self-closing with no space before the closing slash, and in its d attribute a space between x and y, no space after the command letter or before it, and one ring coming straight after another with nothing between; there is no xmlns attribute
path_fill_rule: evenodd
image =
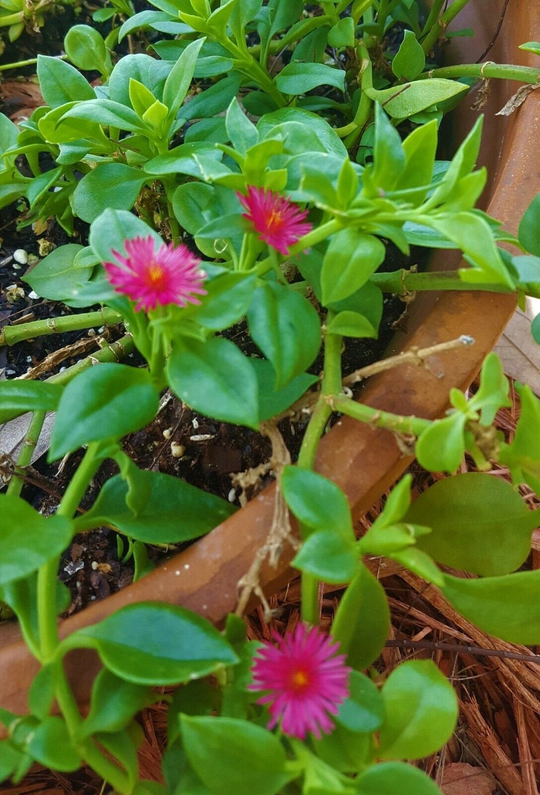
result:
<svg viewBox="0 0 540 795"><path fill-rule="evenodd" d="M156 250L156 241L149 235L126 240L125 248L126 257L112 250L121 265L104 262L103 266L117 293L137 301L137 311L166 304L200 304L194 295L206 295L200 259L183 243L176 248L173 243L162 243Z"/></svg>

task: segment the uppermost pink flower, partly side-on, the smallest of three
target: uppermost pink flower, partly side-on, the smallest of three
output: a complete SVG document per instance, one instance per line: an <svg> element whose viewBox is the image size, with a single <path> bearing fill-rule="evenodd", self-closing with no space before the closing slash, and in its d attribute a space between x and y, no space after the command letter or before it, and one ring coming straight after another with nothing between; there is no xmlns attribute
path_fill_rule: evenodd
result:
<svg viewBox="0 0 540 795"><path fill-rule="evenodd" d="M259 239L286 257L289 255L289 246L312 230L311 223L302 223L308 211L301 211L296 204L277 192L249 185L247 196L241 193L236 196L247 209L243 218L251 221Z"/></svg>

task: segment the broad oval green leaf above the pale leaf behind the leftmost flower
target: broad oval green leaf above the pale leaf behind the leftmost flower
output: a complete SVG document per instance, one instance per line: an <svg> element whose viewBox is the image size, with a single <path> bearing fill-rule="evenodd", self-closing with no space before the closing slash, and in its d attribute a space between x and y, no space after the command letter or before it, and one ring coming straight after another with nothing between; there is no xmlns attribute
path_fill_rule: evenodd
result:
<svg viewBox="0 0 540 795"><path fill-rule="evenodd" d="M107 209L130 210L147 179L140 169L125 163L102 163L77 184L73 212L91 223Z"/></svg>

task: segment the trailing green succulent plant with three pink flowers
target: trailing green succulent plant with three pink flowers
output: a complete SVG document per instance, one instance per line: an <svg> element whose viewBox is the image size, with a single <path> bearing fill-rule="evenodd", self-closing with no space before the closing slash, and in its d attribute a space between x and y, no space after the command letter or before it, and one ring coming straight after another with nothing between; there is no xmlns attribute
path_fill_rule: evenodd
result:
<svg viewBox="0 0 540 795"><path fill-rule="evenodd" d="M173 36L153 43L158 58L117 60L95 29L76 25L68 60L37 59L46 106L19 128L0 117L2 206L25 201L21 227L51 216L68 235L77 219L90 225L86 245L58 247L25 276L38 296L90 311L54 328L5 328L4 341L91 328L107 312L126 328L124 347L145 361L127 366L105 355L105 363L88 360L50 381L0 382L3 421L33 412L0 494L0 595L41 663L29 714L0 711L8 733L0 774L20 781L33 761L60 771L84 761L122 795L436 795L437 785L406 760L449 739L456 697L431 661L403 663L384 682L370 675L389 610L363 559L398 561L499 638L540 642L540 575L518 571L538 511L517 490L526 483L540 491L540 405L522 386L514 440L501 438L493 421L509 405L508 382L490 354L479 390L469 398L452 390L443 419L381 412L353 399L360 376L344 380L342 343L378 335L385 293L540 296L540 197L517 238L476 208L487 176L476 169L481 118L451 160L437 160L441 119L475 80L532 87L540 70L439 66L434 48L465 2L447 10L434 2L429 13L408 0L154 5L133 16L126 6L118 41L140 29ZM524 46L540 52L534 42ZM80 70L101 79L89 82ZM522 88L512 107L525 96ZM387 272L389 242L404 256L410 246L458 249L468 267ZM258 356L227 336L244 319ZM464 336L442 348L472 343ZM321 346L318 378L309 368ZM123 437L153 420L165 388L273 442L274 523L240 583L238 613L258 591L264 556L293 544L303 622L274 643L247 641L240 615L219 632L159 603L132 604L60 641L66 592L58 561L76 533L113 526L144 569L145 544L192 541L235 510L181 479L139 469L122 448ZM309 414L296 465L276 452L276 419L291 406ZM48 411L56 411L49 460L85 452L58 510L44 516L21 498L21 476ZM344 494L313 471L335 413L394 432L430 471L452 475L464 452L479 471L441 480L414 502L406 476L357 540ZM106 460L118 475L81 514ZM514 487L489 474L492 462L510 467ZM348 584L330 637L317 628L321 581ZM96 650L103 663L85 717L63 667L77 648ZM169 685L180 687L167 696L160 785L138 779L134 716L161 700L154 688Z"/></svg>

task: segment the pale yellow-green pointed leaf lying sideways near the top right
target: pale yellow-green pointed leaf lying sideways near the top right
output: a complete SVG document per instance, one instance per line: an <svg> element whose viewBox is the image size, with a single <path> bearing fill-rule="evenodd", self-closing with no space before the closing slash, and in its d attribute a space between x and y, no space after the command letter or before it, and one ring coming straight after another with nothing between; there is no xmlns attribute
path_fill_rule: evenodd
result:
<svg viewBox="0 0 540 795"><path fill-rule="evenodd" d="M431 80L406 83L405 86L384 88L383 91L367 88L366 94L370 99L384 105L384 110L392 118L409 118L468 90L468 86L457 83L456 80L433 77Z"/></svg>

